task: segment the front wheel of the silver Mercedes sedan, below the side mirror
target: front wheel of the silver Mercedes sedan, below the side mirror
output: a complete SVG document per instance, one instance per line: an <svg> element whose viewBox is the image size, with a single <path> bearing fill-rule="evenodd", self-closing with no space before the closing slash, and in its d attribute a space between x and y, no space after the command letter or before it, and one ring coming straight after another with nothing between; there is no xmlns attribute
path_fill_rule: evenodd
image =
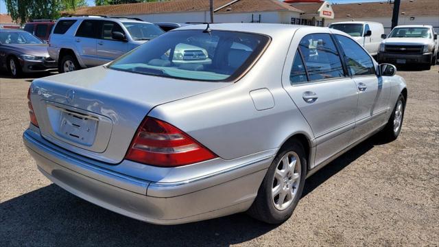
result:
<svg viewBox="0 0 439 247"><path fill-rule="evenodd" d="M381 139L384 141L394 141L398 138L403 126L404 112L405 99L403 95L399 95L388 123L385 125L384 129L381 130ZM397 127L396 123L398 123Z"/></svg>

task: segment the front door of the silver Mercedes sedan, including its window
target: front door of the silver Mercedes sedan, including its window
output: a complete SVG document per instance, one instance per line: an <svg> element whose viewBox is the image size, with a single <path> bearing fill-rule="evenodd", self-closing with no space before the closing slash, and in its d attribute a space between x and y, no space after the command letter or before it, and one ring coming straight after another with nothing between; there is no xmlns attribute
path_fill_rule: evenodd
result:
<svg viewBox="0 0 439 247"><path fill-rule="evenodd" d="M340 43L349 75L357 85L358 107L353 134L355 142L385 124L391 85L390 81L377 76L372 58L358 43L340 34L335 34L335 38Z"/></svg>

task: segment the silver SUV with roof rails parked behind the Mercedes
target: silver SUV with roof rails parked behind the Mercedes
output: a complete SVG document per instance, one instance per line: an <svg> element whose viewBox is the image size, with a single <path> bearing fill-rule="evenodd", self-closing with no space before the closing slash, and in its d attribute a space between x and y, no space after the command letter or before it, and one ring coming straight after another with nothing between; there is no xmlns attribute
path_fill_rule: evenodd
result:
<svg viewBox="0 0 439 247"><path fill-rule="evenodd" d="M106 16L60 18L49 38L49 56L60 73L106 64L163 30L141 19Z"/></svg>

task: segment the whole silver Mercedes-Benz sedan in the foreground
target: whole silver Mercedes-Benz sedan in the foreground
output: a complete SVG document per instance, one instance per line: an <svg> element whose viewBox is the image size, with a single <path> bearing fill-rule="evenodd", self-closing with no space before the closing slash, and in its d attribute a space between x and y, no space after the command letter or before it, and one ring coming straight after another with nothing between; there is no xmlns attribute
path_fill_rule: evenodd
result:
<svg viewBox="0 0 439 247"><path fill-rule="evenodd" d="M395 72L337 30L191 25L34 80L23 139L52 182L122 215L248 211L278 224L308 176L372 134L398 137L407 89Z"/></svg>

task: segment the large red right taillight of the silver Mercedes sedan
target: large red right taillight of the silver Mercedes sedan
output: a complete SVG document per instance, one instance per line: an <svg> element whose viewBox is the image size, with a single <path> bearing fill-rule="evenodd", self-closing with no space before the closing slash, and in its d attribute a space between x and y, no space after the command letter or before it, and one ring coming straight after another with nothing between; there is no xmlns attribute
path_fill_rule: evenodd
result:
<svg viewBox="0 0 439 247"><path fill-rule="evenodd" d="M217 157L185 132L164 121L146 117L132 139L126 159L157 165L177 167Z"/></svg>

